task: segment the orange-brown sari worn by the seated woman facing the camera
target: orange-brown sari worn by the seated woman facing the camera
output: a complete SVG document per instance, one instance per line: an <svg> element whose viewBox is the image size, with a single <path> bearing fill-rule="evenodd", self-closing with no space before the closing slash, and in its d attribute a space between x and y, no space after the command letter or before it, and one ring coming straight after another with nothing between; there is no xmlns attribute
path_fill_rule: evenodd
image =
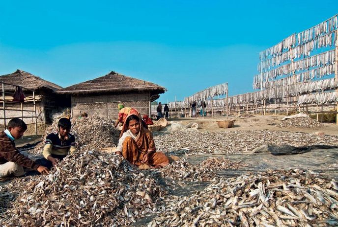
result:
<svg viewBox="0 0 338 227"><path fill-rule="evenodd" d="M127 131L123 126L122 132ZM140 118L140 132L134 140L132 137L126 137L123 141L122 156L134 165L141 165L145 154L148 155L146 164L159 168L169 164L168 157L162 152L156 152L154 138L150 131L142 127Z"/></svg>

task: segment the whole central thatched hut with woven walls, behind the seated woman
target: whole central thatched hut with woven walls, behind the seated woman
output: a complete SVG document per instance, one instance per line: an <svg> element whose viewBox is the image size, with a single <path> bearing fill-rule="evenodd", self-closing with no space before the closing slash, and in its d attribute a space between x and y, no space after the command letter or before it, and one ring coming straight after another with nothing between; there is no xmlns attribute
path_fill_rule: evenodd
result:
<svg viewBox="0 0 338 227"><path fill-rule="evenodd" d="M157 84L125 76L114 71L107 75L76 84L56 93L70 94L72 117L85 112L115 119L117 104L134 107L141 114L151 114L150 103L166 89Z"/></svg>

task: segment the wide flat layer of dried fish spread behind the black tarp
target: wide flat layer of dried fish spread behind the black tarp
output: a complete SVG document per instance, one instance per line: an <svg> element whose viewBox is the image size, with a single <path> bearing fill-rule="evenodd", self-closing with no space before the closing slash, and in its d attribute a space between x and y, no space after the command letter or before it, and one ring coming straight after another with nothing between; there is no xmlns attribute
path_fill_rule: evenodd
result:
<svg viewBox="0 0 338 227"><path fill-rule="evenodd" d="M170 155L235 154L262 145L337 145L338 136L270 130L154 133L157 150Z"/></svg>

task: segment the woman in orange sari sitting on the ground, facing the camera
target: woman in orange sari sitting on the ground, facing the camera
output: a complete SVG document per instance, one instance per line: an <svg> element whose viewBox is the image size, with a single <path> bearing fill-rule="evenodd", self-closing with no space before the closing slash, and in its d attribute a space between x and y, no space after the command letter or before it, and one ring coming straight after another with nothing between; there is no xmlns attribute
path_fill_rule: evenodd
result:
<svg viewBox="0 0 338 227"><path fill-rule="evenodd" d="M156 152L153 136L142 127L140 117L134 114L129 115L122 132L116 154L122 155L137 166L147 164L150 167L160 168L169 164L169 159L165 154Z"/></svg>

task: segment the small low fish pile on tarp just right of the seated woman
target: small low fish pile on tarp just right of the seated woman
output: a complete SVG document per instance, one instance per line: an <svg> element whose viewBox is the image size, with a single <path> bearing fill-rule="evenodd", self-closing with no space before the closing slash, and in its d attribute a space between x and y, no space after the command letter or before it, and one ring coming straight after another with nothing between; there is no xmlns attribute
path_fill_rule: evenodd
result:
<svg viewBox="0 0 338 227"><path fill-rule="evenodd" d="M200 164L192 165L186 159L180 159L159 169L163 177L174 181L212 182L218 177L218 171L223 169L239 169L245 166L240 161L230 161L223 157L209 158Z"/></svg>

